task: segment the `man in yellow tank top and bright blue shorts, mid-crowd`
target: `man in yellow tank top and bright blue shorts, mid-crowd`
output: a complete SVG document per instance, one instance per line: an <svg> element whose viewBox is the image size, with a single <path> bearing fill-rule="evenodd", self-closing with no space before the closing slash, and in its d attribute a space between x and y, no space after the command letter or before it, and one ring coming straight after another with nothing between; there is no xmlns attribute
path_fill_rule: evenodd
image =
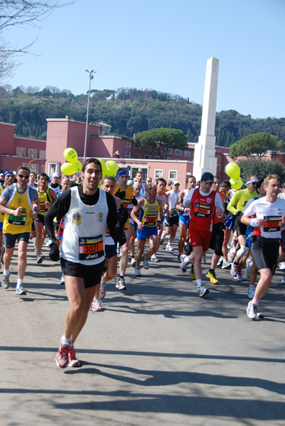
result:
<svg viewBox="0 0 285 426"><path fill-rule="evenodd" d="M143 267L150 268L148 259L155 253L158 244L157 227L161 226L163 214L162 202L155 198L157 195L157 185L155 183L147 183L145 185L146 195L138 201L138 204L133 208L130 217L133 222L138 224L137 229L137 244L138 251L135 256L135 276L140 277L140 261L143 258ZM136 215L140 212L140 217ZM147 239L149 249L145 250L145 240Z"/></svg>

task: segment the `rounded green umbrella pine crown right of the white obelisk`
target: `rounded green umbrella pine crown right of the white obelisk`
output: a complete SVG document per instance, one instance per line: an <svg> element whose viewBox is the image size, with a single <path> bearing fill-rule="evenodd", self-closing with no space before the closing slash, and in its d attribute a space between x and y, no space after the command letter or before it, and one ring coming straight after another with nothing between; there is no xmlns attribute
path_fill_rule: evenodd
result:
<svg viewBox="0 0 285 426"><path fill-rule="evenodd" d="M269 133L255 133L245 136L230 146L230 157L246 156L247 158L262 158L269 150L284 151L285 143L278 136Z"/></svg>

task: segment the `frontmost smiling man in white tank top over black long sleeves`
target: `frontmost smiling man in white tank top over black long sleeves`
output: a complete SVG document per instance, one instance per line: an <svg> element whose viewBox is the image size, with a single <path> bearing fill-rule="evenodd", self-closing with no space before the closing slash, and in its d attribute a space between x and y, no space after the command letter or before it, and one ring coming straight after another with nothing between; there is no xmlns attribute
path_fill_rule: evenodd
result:
<svg viewBox="0 0 285 426"><path fill-rule="evenodd" d="M116 239L118 214L116 202L105 191L99 190L102 178L101 163L89 158L82 165L82 185L63 192L45 215L45 226L50 237L50 258L59 260L53 219L65 217L62 235L62 271L69 309L65 315L65 331L60 340L55 361L57 366L79 366L74 342L87 319L89 307L99 286L105 261L106 226Z"/></svg>

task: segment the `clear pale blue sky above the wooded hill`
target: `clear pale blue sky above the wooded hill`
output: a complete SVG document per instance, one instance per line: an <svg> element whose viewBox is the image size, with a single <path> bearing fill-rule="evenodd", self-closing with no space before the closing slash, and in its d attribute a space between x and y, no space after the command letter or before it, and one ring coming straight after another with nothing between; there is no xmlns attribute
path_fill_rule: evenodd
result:
<svg viewBox="0 0 285 426"><path fill-rule="evenodd" d="M208 58L219 60L217 111L285 117L285 0L60 0L4 38L30 47L6 83L155 89L203 104Z"/></svg>

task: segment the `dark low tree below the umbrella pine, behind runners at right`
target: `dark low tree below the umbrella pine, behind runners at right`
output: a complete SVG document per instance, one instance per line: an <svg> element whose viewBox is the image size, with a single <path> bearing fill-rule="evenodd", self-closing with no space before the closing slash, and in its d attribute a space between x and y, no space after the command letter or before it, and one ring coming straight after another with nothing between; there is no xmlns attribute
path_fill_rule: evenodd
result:
<svg viewBox="0 0 285 426"><path fill-rule="evenodd" d="M279 175L280 181L285 182L285 165L278 160L259 160L258 158L238 161L240 176L245 182L249 175L266 178L269 174Z"/></svg>

